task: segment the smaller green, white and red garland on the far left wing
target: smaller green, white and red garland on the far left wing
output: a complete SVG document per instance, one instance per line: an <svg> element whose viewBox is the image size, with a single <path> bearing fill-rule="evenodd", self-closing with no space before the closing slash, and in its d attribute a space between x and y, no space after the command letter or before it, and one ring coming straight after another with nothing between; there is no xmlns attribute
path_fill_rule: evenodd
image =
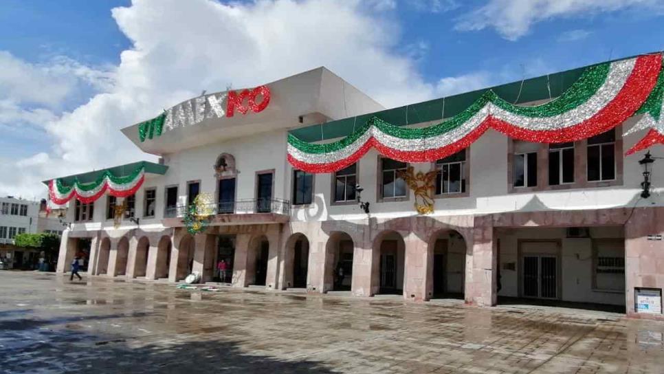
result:
<svg viewBox="0 0 664 374"><path fill-rule="evenodd" d="M80 183L67 186L60 179L49 181L49 198L58 205L63 205L71 199L78 199L82 203L91 203L109 192L115 197L127 197L136 193L145 180L145 167L139 166L130 175L116 177L106 170L96 181L91 183Z"/></svg>

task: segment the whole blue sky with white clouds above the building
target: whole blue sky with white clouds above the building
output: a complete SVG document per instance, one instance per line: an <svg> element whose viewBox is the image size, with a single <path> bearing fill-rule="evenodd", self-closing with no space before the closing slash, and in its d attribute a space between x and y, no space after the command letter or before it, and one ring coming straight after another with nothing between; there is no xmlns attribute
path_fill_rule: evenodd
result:
<svg viewBox="0 0 664 374"><path fill-rule="evenodd" d="M3 0L0 196L140 159L119 129L325 66L385 107L664 50L664 0Z"/></svg>

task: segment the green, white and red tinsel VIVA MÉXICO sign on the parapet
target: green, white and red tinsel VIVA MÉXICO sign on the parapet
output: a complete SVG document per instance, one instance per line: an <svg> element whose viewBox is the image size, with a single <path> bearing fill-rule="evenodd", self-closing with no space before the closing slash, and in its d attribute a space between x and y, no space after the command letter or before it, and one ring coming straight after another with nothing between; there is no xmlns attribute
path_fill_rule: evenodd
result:
<svg viewBox="0 0 664 374"><path fill-rule="evenodd" d="M138 124L141 142L178 127L192 126L210 118L233 117L236 113L259 113L269 104L269 87L201 95L175 105L157 117Z"/></svg>

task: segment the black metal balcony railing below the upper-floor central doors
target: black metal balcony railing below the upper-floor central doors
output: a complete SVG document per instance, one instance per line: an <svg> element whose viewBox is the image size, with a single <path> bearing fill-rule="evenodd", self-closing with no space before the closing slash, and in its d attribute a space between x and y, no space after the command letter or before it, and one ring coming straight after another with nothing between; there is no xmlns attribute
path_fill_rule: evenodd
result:
<svg viewBox="0 0 664 374"><path fill-rule="evenodd" d="M291 202L285 199L239 199L236 201L219 201L205 206L212 215L215 214L252 214L252 213L276 213L290 214ZM164 217L184 217L188 212L188 206L167 206Z"/></svg>

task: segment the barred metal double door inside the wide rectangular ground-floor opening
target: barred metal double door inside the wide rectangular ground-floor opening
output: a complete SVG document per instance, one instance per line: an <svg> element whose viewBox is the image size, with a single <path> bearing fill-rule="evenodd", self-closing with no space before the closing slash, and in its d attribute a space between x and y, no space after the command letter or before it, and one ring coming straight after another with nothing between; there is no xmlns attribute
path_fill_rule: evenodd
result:
<svg viewBox="0 0 664 374"><path fill-rule="evenodd" d="M557 298L557 259L555 256L523 256L523 296Z"/></svg>

